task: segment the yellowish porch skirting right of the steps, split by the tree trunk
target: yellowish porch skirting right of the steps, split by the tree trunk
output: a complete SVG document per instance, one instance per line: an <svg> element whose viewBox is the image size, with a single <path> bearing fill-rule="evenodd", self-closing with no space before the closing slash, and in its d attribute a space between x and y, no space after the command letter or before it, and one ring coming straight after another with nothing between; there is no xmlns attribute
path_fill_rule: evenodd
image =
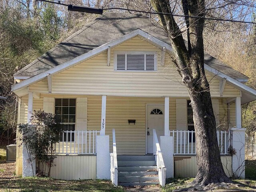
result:
<svg viewBox="0 0 256 192"><path fill-rule="evenodd" d="M232 176L232 156L221 156L224 172L228 177ZM174 162L175 177L196 177L196 157L185 158L183 160L175 160Z"/></svg>

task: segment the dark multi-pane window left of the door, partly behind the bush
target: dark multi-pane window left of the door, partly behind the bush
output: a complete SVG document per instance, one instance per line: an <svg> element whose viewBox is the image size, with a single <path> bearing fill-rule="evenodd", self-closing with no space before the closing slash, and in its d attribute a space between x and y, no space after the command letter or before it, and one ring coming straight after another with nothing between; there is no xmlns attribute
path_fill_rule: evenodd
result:
<svg viewBox="0 0 256 192"><path fill-rule="evenodd" d="M74 131L76 125L76 99L55 99L55 114L62 122L63 130ZM66 136L66 133L64 133L64 141L67 141ZM70 140L74 141L74 133L72 133L71 139L70 133L68 133L68 141Z"/></svg>

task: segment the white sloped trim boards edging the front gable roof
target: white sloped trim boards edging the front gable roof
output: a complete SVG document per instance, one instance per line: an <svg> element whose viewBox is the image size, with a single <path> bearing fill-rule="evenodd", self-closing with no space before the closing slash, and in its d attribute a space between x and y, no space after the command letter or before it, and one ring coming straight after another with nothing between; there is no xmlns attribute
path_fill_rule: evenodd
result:
<svg viewBox="0 0 256 192"><path fill-rule="evenodd" d="M28 78L18 84L15 84L12 86L12 91L15 93L16 90L18 90L18 89L28 87L31 84L34 84L41 80L44 80L47 78L47 74L49 74L49 73L51 74L51 76L54 76L64 70L67 70L68 68L72 68L73 66L76 66L86 60L89 60L90 58L92 58L94 56L97 56L97 55L107 51L109 47L113 48L115 46L118 46L119 44L121 44L127 40L130 40L136 36L142 38L146 42L150 42L152 45L160 48L161 50L163 47L166 47L167 52L172 52L172 46L170 46L166 42L163 42L162 40L159 40L158 38L151 36L150 34L142 31L141 29L136 29L128 34L125 34L124 36L121 36L115 40L112 40L102 46L99 46L98 48L95 48L94 50L91 50L85 54L82 54L72 60L69 60L68 62L65 62L61 65L54 67L54 68L51 68L51 69L49 69L45 72L42 72L36 76ZM227 83L230 82L232 84L232 86L234 86L235 88L238 88L239 90L242 90L243 92L246 92L247 94L251 94L252 96L255 96L255 100L256 100L256 90L250 88L249 86L244 85L239 80L231 78L230 76L216 70L215 68L212 68L211 66L209 66L207 64L204 64L204 68L206 70L208 70L209 72L211 72L212 74L216 75L217 78L219 77L219 79L226 78Z"/></svg>

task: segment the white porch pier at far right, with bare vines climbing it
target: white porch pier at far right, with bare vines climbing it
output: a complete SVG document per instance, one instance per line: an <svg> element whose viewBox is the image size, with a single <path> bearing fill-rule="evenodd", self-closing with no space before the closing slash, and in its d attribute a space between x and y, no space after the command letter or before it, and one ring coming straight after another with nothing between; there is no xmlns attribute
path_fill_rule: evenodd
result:
<svg viewBox="0 0 256 192"><path fill-rule="evenodd" d="M232 171L236 178L245 177L245 131L245 128L232 128L232 147L236 150L232 156Z"/></svg>

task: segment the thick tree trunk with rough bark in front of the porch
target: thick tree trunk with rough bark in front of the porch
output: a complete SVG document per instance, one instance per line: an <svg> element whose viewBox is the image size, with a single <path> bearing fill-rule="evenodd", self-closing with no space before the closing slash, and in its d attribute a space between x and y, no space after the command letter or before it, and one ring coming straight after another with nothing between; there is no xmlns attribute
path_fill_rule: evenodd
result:
<svg viewBox="0 0 256 192"><path fill-rule="evenodd" d="M222 167L220 151L216 136L216 120L212 108L210 87L204 71L204 0L182 0L184 15L199 16L200 18L185 17L188 36L188 49L185 46L182 32L172 15L168 0L151 0L159 14L174 52L174 64L186 85L193 109L194 127L196 134L196 163L198 174L191 186L206 186L210 183L232 181Z"/></svg>

